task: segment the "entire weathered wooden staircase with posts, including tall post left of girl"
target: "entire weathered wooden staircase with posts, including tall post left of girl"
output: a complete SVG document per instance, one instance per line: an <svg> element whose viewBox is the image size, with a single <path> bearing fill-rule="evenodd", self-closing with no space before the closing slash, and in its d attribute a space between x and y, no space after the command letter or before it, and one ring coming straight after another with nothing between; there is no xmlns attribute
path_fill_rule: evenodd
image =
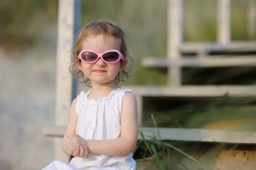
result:
<svg viewBox="0 0 256 170"><path fill-rule="evenodd" d="M80 0L59 0L58 13L58 52L57 52L57 92L56 121L54 127L44 127L43 134L55 138L55 159L69 162L61 149L61 141L68 123L69 108L72 98L77 95L76 81L67 70L67 61L63 60L65 50L71 49L73 40L80 27L77 18L80 16ZM249 0L249 18L251 27L255 28L256 0ZM256 42L233 42L230 39L230 0L218 0L218 35L216 43L186 43L183 42L183 0L168 0L168 52L166 57L145 57L142 65L145 67L168 69L167 86L129 86L137 96L140 124L143 120L143 97L218 97L229 95L256 96L256 86L185 86L181 82L184 67L232 67L256 66ZM70 12L67 15L67 12ZM75 17L74 17L75 16ZM255 29L251 29L250 31ZM212 55L218 53L218 55ZM239 55L238 55L239 54ZM79 87L81 88L81 87ZM86 90L86 89L83 89ZM146 134L154 129L143 127ZM176 141L205 141L226 143L256 143L255 132L176 129L160 128L164 139Z"/></svg>

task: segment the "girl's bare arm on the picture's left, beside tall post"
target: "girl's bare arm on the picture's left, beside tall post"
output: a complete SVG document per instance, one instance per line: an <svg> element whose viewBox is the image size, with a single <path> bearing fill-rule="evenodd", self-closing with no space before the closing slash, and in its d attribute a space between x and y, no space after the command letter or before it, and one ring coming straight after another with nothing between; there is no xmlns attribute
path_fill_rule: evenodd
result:
<svg viewBox="0 0 256 170"><path fill-rule="evenodd" d="M62 150L64 153L67 153L67 145L65 144L65 140L67 140L68 135L76 134L76 124L77 124L77 115L76 115L76 98L73 100L70 107L70 117L67 125L66 132L63 137L63 141L61 144ZM69 154L68 154L69 155Z"/></svg>

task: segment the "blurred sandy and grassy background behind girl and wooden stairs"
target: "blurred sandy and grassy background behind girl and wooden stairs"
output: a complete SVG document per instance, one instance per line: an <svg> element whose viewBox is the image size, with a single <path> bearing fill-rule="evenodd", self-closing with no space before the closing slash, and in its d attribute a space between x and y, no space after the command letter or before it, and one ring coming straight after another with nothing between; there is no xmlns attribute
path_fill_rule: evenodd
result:
<svg viewBox="0 0 256 170"><path fill-rule="evenodd" d="M216 2L186 0L184 41L216 41ZM256 31L248 31L248 0L231 3L231 39L256 40ZM107 19L126 33L135 62L125 85L167 84L167 69L140 62L167 55L167 0L81 0L81 5L81 25ZM42 128L55 123L57 14L58 0L0 1L0 170L39 170L54 160L53 138L43 136ZM182 83L253 85L255 76L255 67L186 68ZM254 98L145 98L143 124L153 126L153 113L160 127L255 130L255 121L247 121L256 119L254 104ZM246 126L236 127L239 120Z"/></svg>

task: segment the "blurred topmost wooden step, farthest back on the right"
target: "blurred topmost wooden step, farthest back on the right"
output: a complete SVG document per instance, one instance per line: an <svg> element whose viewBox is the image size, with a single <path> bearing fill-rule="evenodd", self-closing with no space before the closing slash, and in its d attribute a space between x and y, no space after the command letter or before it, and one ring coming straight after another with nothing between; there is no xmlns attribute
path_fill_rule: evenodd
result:
<svg viewBox="0 0 256 170"><path fill-rule="evenodd" d="M198 52L256 52L256 41L233 41L229 44L220 43L182 43L179 47L181 53L198 53Z"/></svg>

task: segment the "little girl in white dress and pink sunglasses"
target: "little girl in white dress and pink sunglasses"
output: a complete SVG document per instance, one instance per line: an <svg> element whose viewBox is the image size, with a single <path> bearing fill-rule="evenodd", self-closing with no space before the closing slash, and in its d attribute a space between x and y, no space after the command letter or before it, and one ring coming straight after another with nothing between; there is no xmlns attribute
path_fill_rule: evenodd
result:
<svg viewBox="0 0 256 170"><path fill-rule="evenodd" d="M73 53L70 72L92 90L82 91L70 107L62 149L74 157L43 170L135 170L137 101L117 85L128 77L124 32L109 21L90 23L80 30Z"/></svg>

